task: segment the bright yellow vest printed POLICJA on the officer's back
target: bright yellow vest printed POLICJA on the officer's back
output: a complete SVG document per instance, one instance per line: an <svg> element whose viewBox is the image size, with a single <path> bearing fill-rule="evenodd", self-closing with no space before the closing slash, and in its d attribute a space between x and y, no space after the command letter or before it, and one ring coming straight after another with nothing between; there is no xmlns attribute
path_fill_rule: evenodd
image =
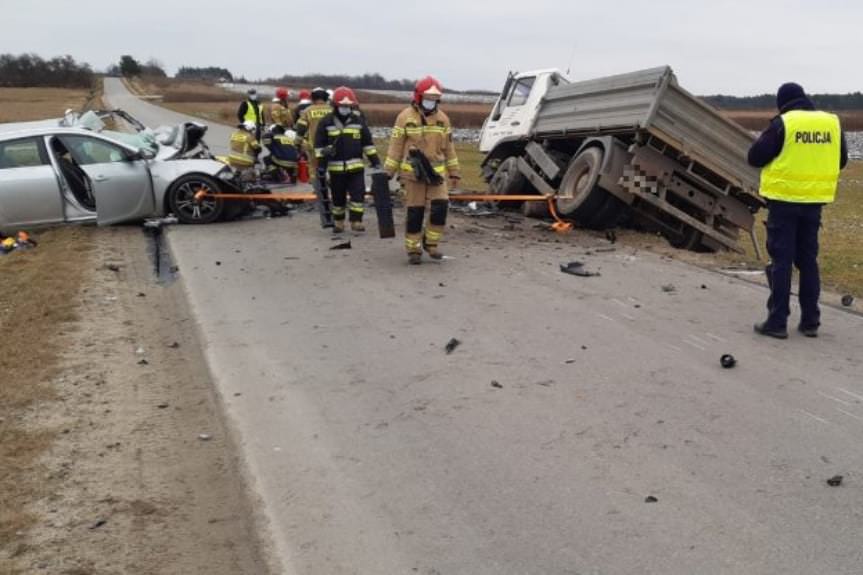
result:
<svg viewBox="0 0 863 575"><path fill-rule="evenodd" d="M794 110L782 114L782 122L782 153L761 170L761 195L800 204L832 203L842 153L839 117Z"/></svg>

